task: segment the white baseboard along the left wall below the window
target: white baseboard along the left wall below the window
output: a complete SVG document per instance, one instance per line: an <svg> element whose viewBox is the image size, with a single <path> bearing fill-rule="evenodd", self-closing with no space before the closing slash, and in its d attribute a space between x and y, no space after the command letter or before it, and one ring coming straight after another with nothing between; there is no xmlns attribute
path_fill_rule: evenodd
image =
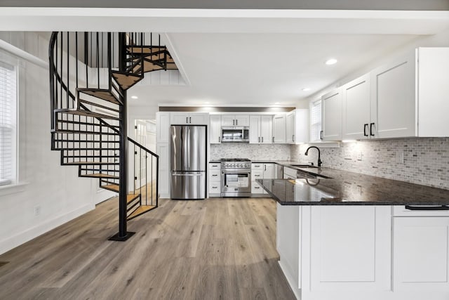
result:
<svg viewBox="0 0 449 300"><path fill-rule="evenodd" d="M40 223L39 225L24 230L21 233L17 233L12 237L6 238L5 240L1 240L0 254L4 254L9 250L18 247L21 244L28 242L29 240L34 239L34 237L38 237L43 233L47 233L53 228L56 228L64 223L67 223L68 221L71 221L76 217L81 216L82 214L86 214L86 212L91 211L93 209L95 209L94 204L86 204L82 207L79 207L78 209L75 209L74 211L69 211L67 214L58 216L48 221L43 221L43 223Z"/></svg>

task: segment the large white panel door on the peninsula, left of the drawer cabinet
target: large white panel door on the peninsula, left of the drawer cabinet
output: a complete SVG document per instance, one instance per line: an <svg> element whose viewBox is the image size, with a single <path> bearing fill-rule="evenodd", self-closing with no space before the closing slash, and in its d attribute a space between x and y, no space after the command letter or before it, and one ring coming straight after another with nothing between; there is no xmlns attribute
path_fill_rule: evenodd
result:
<svg viewBox="0 0 449 300"><path fill-rule="evenodd" d="M391 289L391 207L315 206L310 226L312 292Z"/></svg>

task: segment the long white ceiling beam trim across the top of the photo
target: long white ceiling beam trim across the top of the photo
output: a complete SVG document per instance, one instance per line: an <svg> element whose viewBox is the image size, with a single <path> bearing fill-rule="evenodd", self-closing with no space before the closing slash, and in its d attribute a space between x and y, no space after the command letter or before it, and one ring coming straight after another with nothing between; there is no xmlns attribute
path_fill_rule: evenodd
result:
<svg viewBox="0 0 449 300"><path fill-rule="evenodd" d="M449 11L1 8L5 31L436 34Z"/></svg>

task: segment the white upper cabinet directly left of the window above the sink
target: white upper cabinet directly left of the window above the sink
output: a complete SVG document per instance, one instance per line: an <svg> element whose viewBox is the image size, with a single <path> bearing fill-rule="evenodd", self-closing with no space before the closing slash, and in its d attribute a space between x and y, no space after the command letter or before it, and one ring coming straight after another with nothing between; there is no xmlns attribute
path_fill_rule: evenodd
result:
<svg viewBox="0 0 449 300"><path fill-rule="evenodd" d="M286 115L286 142L288 144L309 141L309 110L292 110Z"/></svg>

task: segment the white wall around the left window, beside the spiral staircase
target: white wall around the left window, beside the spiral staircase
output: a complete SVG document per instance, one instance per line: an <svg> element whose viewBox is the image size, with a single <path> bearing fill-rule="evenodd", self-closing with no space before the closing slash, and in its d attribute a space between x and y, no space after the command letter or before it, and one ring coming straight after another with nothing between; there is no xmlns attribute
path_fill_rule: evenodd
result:
<svg viewBox="0 0 449 300"><path fill-rule="evenodd" d="M0 32L0 39L48 61L48 39L32 32ZM0 50L1 51L1 50ZM98 181L60 166L51 151L48 68L21 60L19 182L0 190L0 254L95 208ZM39 216L34 210L40 207ZM109 233L105 233L106 235Z"/></svg>

